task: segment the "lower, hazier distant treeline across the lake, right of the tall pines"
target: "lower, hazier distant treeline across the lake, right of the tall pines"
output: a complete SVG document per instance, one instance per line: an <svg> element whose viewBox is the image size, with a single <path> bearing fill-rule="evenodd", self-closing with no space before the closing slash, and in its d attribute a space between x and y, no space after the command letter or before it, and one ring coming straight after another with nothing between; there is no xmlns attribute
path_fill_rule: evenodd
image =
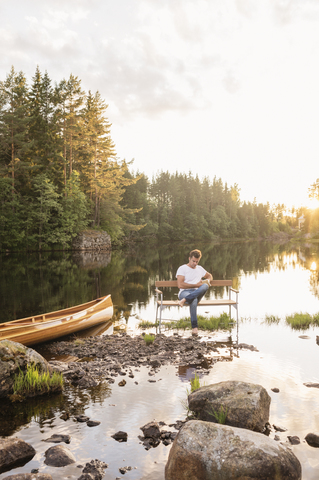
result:
<svg viewBox="0 0 319 480"><path fill-rule="evenodd" d="M285 205L241 202L237 184L228 187L216 177L200 180L191 173L160 172L152 182L142 175L126 188L122 203L140 209L135 223L145 225L131 236L159 241L267 237L290 232L298 213L287 215Z"/></svg>

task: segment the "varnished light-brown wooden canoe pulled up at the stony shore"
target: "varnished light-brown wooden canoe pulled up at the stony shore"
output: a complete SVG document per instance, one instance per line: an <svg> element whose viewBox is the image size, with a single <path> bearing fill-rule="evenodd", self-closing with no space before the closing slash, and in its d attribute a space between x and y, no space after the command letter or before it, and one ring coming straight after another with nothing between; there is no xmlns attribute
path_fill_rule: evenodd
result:
<svg viewBox="0 0 319 480"><path fill-rule="evenodd" d="M107 322L112 316L111 295L106 295L64 310L1 323L0 341L35 345Z"/></svg>

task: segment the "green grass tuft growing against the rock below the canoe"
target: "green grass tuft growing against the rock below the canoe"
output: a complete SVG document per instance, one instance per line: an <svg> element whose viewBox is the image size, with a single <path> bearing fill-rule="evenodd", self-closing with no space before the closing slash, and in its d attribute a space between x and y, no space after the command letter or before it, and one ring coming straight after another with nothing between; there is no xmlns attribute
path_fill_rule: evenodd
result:
<svg viewBox="0 0 319 480"><path fill-rule="evenodd" d="M51 390L62 390L63 375L54 372L51 376L49 372L39 372L37 367L29 365L25 372L15 375L13 381L13 395L15 396L31 396Z"/></svg>

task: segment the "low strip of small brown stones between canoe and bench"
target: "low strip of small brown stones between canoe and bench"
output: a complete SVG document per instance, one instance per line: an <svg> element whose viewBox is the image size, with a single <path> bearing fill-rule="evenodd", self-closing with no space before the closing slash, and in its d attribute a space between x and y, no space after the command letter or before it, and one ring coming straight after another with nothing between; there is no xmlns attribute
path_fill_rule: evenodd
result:
<svg viewBox="0 0 319 480"><path fill-rule="evenodd" d="M143 336L131 337L120 333L75 342L55 342L49 350L57 357L69 356L68 362L51 360L50 365L62 372L67 382L83 388L96 386L105 380L114 383L118 376L134 378L133 368L140 366L149 368L150 377L161 366L168 364L193 365L205 374L214 362L221 360L211 358L212 353L219 352L216 342L203 342L196 337L179 334L156 335L154 342L147 345Z"/></svg>

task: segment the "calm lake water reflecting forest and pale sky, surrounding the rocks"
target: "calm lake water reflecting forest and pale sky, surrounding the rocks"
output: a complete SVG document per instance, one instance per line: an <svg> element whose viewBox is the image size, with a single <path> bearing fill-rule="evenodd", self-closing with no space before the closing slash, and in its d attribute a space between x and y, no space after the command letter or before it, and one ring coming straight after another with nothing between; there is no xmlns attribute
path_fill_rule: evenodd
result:
<svg viewBox="0 0 319 480"><path fill-rule="evenodd" d="M292 449L302 463L303 479L317 479L319 449L309 447L304 437L309 432L319 434L319 389L303 384L319 383L316 344L319 328L292 330L285 317L294 312L319 312L318 247L288 248L257 242L196 247L203 252L202 265L213 272L214 278L233 278L240 290L240 322L238 329L235 326L232 331L233 341L258 349L258 352L237 351L236 346L231 351L225 349L223 353L229 361L215 364L209 375L201 378L202 383L242 380L263 385L272 398L270 423L287 428L279 433L283 442L287 435L300 437L301 444ZM114 330L125 328L128 333L136 334L140 319L154 320L155 279L174 278L177 267L187 260L190 248L118 251L111 258L71 254L48 254L41 258L4 256L0 321L56 310L111 293L116 305ZM170 295L176 298L176 292ZM210 295L227 293L221 289L210 291ZM216 315L221 311L215 307L205 308L201 313ZM186 314L187 309L171 309L165 318L177 319ZM279 323L268 324L265 319L270 315L279 317ZM224 340L227 335L219 333L216 338ZM26 466L1 474L0 479L30 472L32 468L51 473L54 479L76 479L80 476L76 465L99 458L109 464L105 479L121 477L118 468L130 465L136 469L126 474L128 479L163 480L169 447L160 445L144 450L138 439L140 427L153 419L171 424L185 418L182 401L186 399L186 387L194 370L163 367L155 376L156 383L148 382L147 373L145 368L134 371L135 378L126 378L124 388L118 387L116 381L94 391L68 389L65 395L54 399L34 400L23 412L11 409L10 413L16 413L15 419L6 425L4 434L23 438L34 446L37 455ZM274 387L280 393L273 393ZM66 405L71 411L101 421L101 425L89 428L72 419L61 420ZM2 410L2 414L8 418L8 412ZM3 420L0 423L4 425ZM111 438L118 430L128 432L127 443L119 444ZM44 452L53 444L42 440L53 433L71 435L69 448L77 459L75 466L52 469L44 465ZM271 436L274 435L272 431Z"/></svg>

